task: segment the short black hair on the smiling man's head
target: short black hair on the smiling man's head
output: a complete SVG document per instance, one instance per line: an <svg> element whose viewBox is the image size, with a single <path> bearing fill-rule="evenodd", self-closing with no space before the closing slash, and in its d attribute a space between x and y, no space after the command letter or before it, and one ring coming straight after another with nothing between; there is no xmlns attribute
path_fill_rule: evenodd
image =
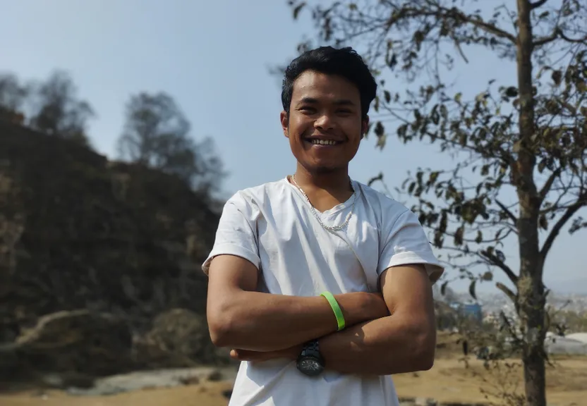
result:
<svg viewBox="0 0 587 406"><path fill-rule="evenodd" d="M288 116L294 82L306 70L314 70L326 75L340 75L356 85L361 94L361 115L363 119L367 118L371 101L377 94L377 82L363 58L351 47L310 49L291 61L285 70L282 85L282 104Z"/></svg>

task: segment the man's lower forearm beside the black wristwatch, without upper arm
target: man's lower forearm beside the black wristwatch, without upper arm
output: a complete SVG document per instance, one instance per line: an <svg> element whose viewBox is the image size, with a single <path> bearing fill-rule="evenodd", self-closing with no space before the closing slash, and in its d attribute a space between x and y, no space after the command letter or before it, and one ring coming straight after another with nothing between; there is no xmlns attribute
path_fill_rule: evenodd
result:
<svg viewBox="0 0 587 406"><path fill-rule="evenodd" d="M387 316L320 339L326 368L344 374L391 375L432 367L433 321Z"/></svg>

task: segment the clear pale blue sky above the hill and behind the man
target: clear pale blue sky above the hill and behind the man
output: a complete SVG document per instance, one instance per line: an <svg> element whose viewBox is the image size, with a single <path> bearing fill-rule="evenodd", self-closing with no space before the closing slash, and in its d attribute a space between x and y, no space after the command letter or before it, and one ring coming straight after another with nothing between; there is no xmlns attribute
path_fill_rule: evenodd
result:
<svg viewBox="0 0 587 406"><path fill-rule="evenodd" d="M227 195L294 171L279 125L279 78L268 69L294 57L313 26L305 18L294 22L286 1L0 0L0 9L0 72L30 80L68 71L97 112L89 135L102 154L115 155L130 95L164 91L196 139L214 139L229 171ZM515 83L507 62L475 49L468 58L450 77L465 94L480 92L489 78ZM390 136L380 151L369 137L351 176L366 182L383 171L390 186L399 186L408 170L448 164L433 147ZM561 235L547 260L547 282L583 277L586 234ZM506 254L515 269L515 250Z"/></svg>

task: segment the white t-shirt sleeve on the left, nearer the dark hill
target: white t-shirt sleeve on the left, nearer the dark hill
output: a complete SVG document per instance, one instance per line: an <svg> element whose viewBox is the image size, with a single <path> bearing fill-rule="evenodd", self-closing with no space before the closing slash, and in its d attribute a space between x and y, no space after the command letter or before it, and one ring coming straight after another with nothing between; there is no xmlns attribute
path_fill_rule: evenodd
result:
<svg viewBox="0 0 587 406"><path fill-rule="evenodd" d="M255 232L255 207L238 193L231 197L224 208L216 230L212 251L202 264L202 271L207 275L210 262L222 254L242 257L259 269L260 258Z"/></svg>

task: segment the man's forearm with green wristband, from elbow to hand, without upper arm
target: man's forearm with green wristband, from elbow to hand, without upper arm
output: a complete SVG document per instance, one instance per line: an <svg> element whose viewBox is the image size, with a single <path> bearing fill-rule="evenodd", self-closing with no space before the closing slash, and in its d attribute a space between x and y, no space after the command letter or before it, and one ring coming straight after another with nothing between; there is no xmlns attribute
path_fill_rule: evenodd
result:
<svg viewBox="0 0 587 406"><path fill-rule="evenodd" d="M373 309L359 305L357 295L362 293L335 295L349 326L373 314ZM282 350L337 331L332 307L321 296L240 291L224 300L216 314L212 323L209 317L209 324L212 341L219 347Z"/></svg>

